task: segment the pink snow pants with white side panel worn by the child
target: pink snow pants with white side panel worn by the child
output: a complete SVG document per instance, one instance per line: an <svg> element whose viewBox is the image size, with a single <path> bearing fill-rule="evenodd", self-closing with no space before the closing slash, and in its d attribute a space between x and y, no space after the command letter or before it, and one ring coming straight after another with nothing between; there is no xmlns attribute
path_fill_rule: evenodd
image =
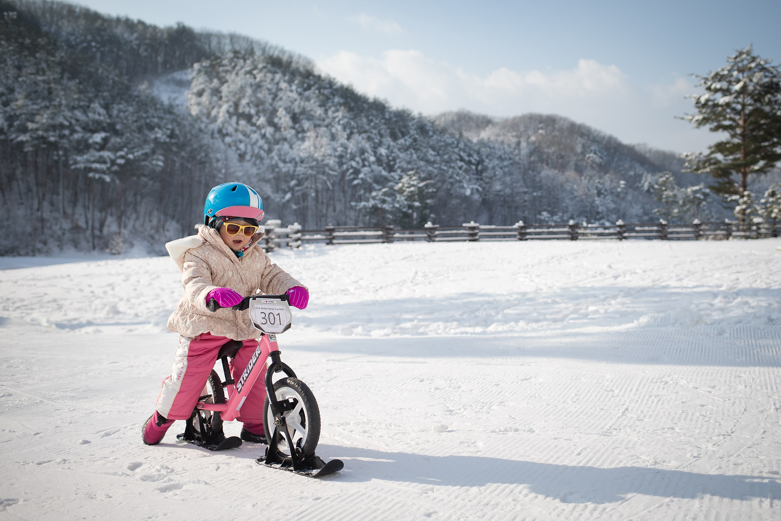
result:
<svg viewBox="0 0 781 521"><path fill-rule="evenodd" d="M198 398L203 395L206 380L212 372L217 353L227 337L215 337L202 333L197 337L179 337L179 348L173 359L171 376L162 380L162 390L157 398L155 409L168 419L187 419L192 415ZM236 352L236 358L230 361L230 373L234 380L241 377L252 353L258 347L254 338L244 341L244 347ZM268 355L268 353L263 353ZM263 423L263 402L266 400L266 387L263 385L266 367L262 368L255 386L241 406L241 416L237 419L248 425ZM227 398L227 397L226 397Z"/></svg>

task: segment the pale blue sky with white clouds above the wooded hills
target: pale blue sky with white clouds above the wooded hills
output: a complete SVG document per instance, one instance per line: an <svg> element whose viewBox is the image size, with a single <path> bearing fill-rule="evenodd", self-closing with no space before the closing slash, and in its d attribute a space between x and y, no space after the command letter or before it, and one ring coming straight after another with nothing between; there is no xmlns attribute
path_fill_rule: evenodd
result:
<svg viewBox="0 0 781 521"><path fill-rule="evenodd" d="M704 150L718 137L676 119L692 111L691 73L716 70L747 45L781 62L778 0L78 3L269 41L425 115L554 113L675 152Z"/></svg>

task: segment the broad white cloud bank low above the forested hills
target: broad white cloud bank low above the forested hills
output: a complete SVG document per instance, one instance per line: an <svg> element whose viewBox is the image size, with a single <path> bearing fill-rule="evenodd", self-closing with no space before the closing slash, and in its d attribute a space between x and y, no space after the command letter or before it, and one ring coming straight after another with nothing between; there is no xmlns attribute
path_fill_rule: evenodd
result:
<svg viewBox="0 0 781 521"><path fill-rule="evenodd" d="M678 77L670 84L640 87L619 67L593 59L552 72L503 67L484 77L415 50L386 51L381 58L343 51L318 65L358 91L424 114L455 109L493 116L555 113L625 142L681 152L714 141L713 134L674 117L691 111L685 95L695 90L692 81Z"/></svg>

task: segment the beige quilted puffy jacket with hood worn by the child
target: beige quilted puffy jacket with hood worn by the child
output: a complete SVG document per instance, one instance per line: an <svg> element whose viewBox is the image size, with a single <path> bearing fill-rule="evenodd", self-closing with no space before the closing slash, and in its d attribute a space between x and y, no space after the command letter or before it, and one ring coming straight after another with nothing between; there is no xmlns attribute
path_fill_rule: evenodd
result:
<svg viewBox="0 0 781 521"><path fill-rule="evenodd" d="M166 244L173 262L182 270L184 297L168 319L168 329L185 337L211 333L233 340L260 336L247 311L206 308L206 294L216 287L230 287L242 297L257 293L284 294L294 286L303 286L282 268L272 264L257 245L262 233L252 237L251 247L237 258L219 232L201 226L198 235Z"/></svg>

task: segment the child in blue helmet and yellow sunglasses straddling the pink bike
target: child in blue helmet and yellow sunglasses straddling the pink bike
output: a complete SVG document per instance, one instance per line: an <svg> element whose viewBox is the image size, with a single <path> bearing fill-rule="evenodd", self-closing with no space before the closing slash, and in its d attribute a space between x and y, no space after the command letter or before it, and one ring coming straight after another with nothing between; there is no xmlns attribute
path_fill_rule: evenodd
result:
<svg viewBox="0 0 781 521"><path fill-rule="evenodd" d="M166 244L182 270L184 297L168 319L168 329L180 334L179 348L173 372L162 382L155 412L142 428L142 439L148 445L159 444L174 420L190 418L223 344L244 341L230 362L234 379L241 376L259 344L258 330L248 313L234 309L210 312L209 299L230 308L260 290L287 294L298 309L305 309L309 301L307 289L255 247L263 236L258 225L263 218L258 192L241 183L220 184L209 192L203 212L204 226L198 235ZM259 381L263 378L261 373ZM259 385L242 405L237 418L244 423L242 440L266 443L265 399L266 388Z"/></svg>

